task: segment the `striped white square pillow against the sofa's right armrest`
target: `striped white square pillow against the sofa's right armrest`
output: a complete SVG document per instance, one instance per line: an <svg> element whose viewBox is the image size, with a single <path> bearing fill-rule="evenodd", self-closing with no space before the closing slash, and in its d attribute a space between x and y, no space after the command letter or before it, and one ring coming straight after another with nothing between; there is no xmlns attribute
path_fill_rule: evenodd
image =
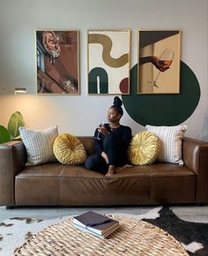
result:
<svg viewBox="0 0 208 256"><path fill-rule="evenodd" d="M187 130L187 125L176 126L152 126L145 125L147 131L153 132L160 138L159 162L172 162L183 164L182 138Z"/></svg>

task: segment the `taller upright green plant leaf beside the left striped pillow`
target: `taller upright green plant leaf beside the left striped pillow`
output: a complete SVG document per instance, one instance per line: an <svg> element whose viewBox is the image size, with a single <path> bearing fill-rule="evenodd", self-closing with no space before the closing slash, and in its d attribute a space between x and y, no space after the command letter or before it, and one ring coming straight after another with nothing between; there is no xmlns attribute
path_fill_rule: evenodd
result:
<svg viewBox="0 0 208 256"><path fill-rule="evenodd" d="M12 139L19 136L20 126L25 126L25 121L22 114L17 111L11 115L8 123L8 131L10 132Z"/></svg>

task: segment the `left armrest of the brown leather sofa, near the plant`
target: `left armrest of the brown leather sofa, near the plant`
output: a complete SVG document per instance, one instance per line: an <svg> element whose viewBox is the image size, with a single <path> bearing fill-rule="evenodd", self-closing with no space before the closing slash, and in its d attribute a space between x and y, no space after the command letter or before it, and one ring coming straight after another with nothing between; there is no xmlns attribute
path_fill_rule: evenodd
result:
<svg viewBox="0 0 208 256"><path fill-rule="evenodd" d="M14 140L0 144L0 205L15 205L14 180L26 165L26 147Z"/></svg>

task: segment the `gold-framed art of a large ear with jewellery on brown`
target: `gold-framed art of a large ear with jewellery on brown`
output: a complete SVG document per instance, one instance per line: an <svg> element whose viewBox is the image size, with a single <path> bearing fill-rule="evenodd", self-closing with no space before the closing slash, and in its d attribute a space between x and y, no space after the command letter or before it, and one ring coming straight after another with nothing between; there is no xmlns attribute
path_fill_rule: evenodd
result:
<svg viewBox="0 0 208 256"><path fill-rule="evenodd" d="M36 31L37 94L79 94L78 30Z"/></svg>

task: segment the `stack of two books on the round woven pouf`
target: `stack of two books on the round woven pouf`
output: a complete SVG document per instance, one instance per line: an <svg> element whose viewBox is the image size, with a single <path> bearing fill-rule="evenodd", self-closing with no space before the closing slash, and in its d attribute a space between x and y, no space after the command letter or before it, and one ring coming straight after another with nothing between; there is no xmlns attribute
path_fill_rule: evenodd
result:
<svg viewBox="0 0 208 256"><path fill-rule="evenodd" d="M74 226L79 230L95 235L97 237L108 237L115 231L119 222L105 215L97 214L93 211L86 212L73 218Z"/></svg>

